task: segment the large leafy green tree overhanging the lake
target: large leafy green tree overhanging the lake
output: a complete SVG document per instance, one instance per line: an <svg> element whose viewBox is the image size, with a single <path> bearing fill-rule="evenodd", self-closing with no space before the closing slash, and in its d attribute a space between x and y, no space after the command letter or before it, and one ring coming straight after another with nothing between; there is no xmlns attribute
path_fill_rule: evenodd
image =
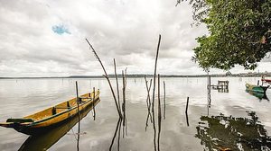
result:
<svg viewBox="0 0 271 151"><path fill-rule="evenodd" d="M255 69L271 51L271 0L189 1L195 22L206 23L210 32L193 49L200 67Z"/></svg>

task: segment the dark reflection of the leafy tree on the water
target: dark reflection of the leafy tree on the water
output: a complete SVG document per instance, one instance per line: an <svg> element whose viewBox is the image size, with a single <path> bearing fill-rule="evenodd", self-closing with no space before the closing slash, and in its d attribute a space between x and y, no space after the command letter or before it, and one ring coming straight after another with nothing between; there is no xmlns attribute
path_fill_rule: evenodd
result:
<svg viewBox="0 0 271 151"><path fill-rule="evenodd" d="M270 150L271 138L260 124L254 111L248 111L249 119L220 116L201 116L196 127L196 138L206 150Z"/></svg>

